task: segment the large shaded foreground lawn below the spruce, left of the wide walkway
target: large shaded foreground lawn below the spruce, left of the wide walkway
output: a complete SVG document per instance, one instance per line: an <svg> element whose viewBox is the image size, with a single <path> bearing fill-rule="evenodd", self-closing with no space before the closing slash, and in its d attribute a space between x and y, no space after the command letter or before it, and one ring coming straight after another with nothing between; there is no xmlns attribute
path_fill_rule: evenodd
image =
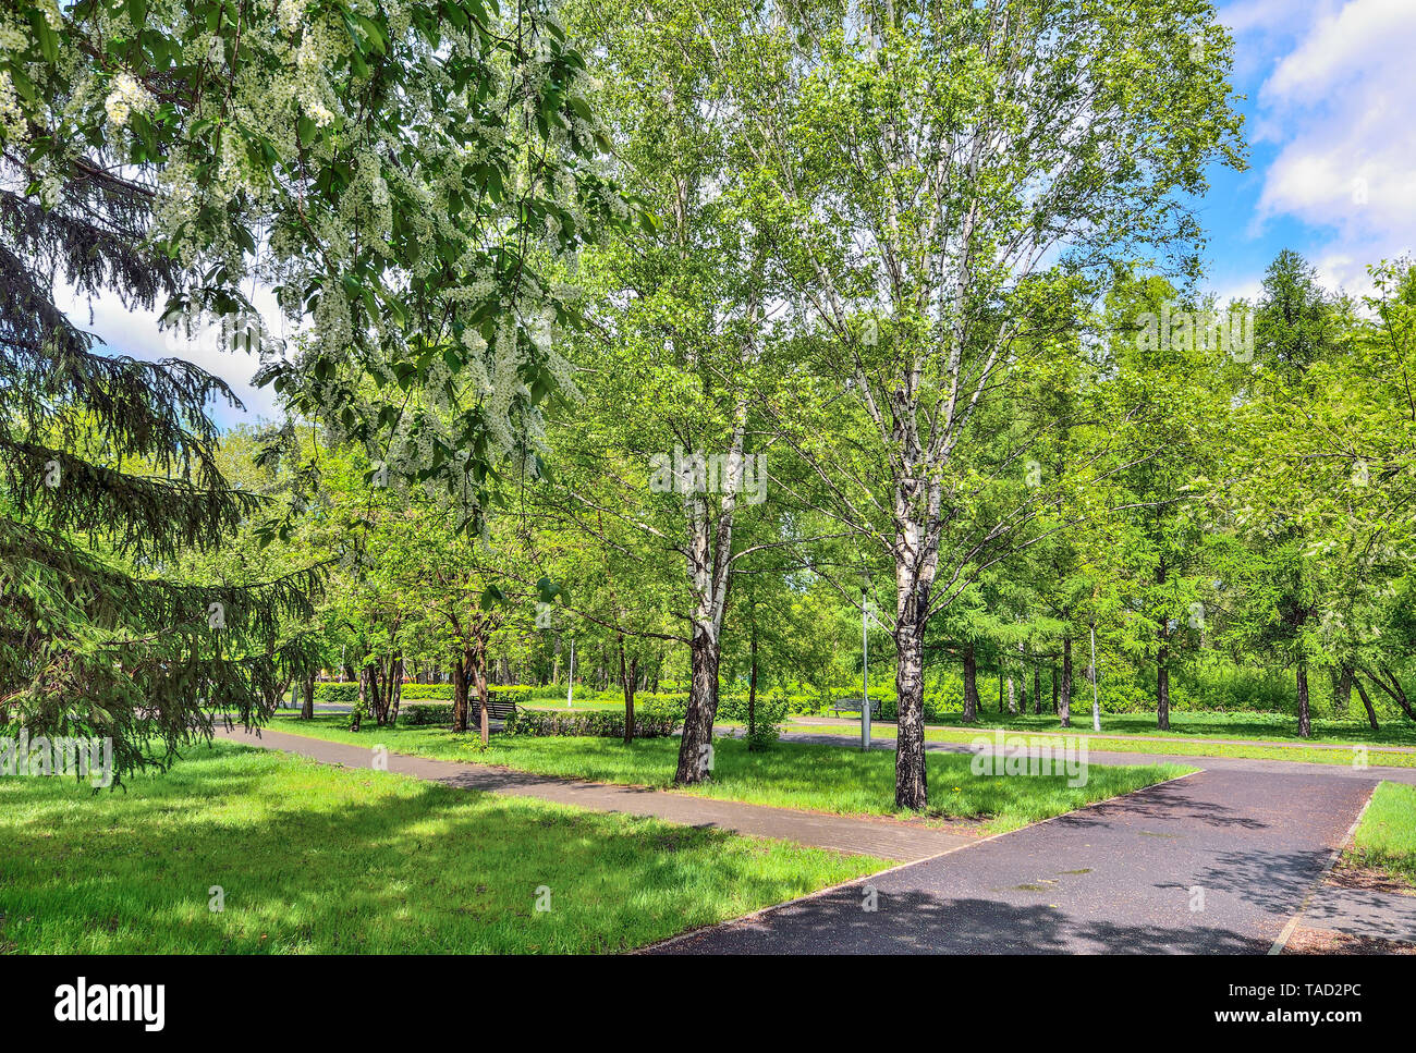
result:
<svg viewBox="0 0 1416 1053"><path fill-rule="evenodd" d="M0 844L0 953L617 951L886 865L229 743L3 778Z"/></svg>

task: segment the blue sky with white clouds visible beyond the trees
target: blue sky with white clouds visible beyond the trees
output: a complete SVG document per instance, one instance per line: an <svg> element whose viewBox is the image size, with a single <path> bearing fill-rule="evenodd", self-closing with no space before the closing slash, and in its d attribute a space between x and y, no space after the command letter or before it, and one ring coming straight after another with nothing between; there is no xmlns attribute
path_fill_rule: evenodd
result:
<svg viewBox="0 0 1416 1053"><path fill-rule="evenodd" d="M1416 252L1416 0L1222 0L1219 20L1235 40L1249 167L1215 166L1198 202L1208 287L1221 303L1253 297L1290 248L1331 289L1361 294L1369 263ZM76 306L81 324L88 309ZM273 395L249 384L252 357L174 344L156 314L112 300L92 311L86 327L110 350L180 355L231 384L245 410L218 406L218 423L276 415Z"/></svg>

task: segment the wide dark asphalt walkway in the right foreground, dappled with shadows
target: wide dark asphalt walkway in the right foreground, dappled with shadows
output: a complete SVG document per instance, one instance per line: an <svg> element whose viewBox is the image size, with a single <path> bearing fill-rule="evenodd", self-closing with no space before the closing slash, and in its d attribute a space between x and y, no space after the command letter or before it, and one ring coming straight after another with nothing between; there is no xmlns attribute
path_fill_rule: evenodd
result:
<svg viewBox="0 0 1416 1053"><path fill-rule="evenodd" d="M1277 769L1202 771L651 950L1264 954L1376 781Z"/></svg>

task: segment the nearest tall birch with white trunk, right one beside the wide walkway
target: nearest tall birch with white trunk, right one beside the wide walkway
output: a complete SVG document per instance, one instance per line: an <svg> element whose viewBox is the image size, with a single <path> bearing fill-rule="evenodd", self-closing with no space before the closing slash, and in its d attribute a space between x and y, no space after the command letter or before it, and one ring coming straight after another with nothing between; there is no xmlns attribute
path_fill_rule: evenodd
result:
<svg viewBox="0 0 1416 1053"><path fill-rule="evenodd" d="M705 34L813 395L848 422L799 453L893 568L895 800L923 808L925 627L1039 505L971 521L1027 463L981 460L990 409L1082 347L1075 307L1112 263L1194 272L1185 195L1240 161L1231 44L1201 0L827 0Z"/></svg>

